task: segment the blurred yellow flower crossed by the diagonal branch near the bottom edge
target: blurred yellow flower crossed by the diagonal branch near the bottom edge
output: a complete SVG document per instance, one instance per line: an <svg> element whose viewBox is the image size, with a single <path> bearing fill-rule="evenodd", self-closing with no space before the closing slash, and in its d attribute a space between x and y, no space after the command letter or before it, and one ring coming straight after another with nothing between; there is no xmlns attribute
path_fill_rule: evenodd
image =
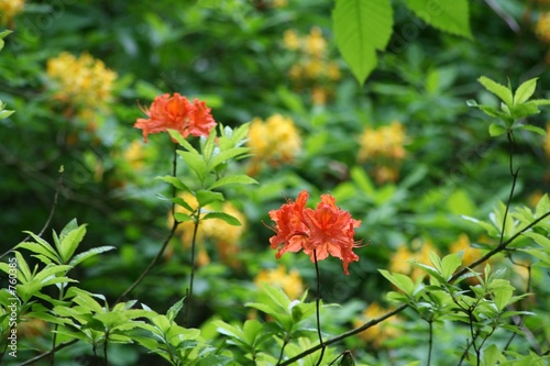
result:
<svg viewBox="0 0 550 366"><path fill-rule="evenodd" d="M380 318L386 314L388 310L383 309L377 302L371 302L371 304L363 312L364 319L355 319L353 321L353 326L359 328L365 323L365 321L370 321L372 319ZM385 322L378 323L374 326L364 330L359 333L359 336L367 342L373 344L375 347L380 347L380 345L387 339L395 337L399 335L400 330L396 326L399 323L399 318L392 317Z"/></svg>

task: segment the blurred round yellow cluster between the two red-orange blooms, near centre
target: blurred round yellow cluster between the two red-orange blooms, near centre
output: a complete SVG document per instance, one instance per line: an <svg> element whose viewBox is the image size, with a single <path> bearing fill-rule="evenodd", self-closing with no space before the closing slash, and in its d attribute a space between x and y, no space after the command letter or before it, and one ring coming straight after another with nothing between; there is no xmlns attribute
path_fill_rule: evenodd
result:
<svg viewBox="0 0 550 366"><path fill-rule="evenodd" d="M290 118L274 114L265 122L258 118L252 121L248 145L254 153L249 173L256 174L263 160L272 165L292 163L300 152L301 137Z"/></svg>

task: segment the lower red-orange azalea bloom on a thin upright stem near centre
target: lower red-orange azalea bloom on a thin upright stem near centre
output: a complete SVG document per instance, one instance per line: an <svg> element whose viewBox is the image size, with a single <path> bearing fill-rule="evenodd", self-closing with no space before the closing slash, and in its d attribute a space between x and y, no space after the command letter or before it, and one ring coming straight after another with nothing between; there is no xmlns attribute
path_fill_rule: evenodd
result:
<svg viewBox="0 0 550 366"><path fill-rule="evenodd" d="M348 211L340 210L336 199L330 195L322 195L317 209L306 208L309 193L302 190L296 202L288 200L280 209L270 211L270 218L275 221L275 235L270 239L272 249L278 249L277 259L285 252L299 252L315 260L322 260L332 255L342 259L346 275L350 262L359 260L353 253L358 243L353 240L355 228L361 221L351 218Z"/></svg>

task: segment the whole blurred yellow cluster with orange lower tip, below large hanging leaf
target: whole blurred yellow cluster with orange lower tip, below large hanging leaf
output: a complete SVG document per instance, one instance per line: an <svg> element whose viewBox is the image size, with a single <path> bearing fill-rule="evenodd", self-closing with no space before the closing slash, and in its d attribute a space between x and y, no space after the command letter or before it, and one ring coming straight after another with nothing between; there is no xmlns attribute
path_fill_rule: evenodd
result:
<svg viewBox="0 0 550 366"><path fill-rule="evenodd" d="M399 163L406 154L406 142L405 127L398 121L378 129L367 127L359 140L358 160L373 163L373 174L378 184L395 181L399 177Z"/></svg>

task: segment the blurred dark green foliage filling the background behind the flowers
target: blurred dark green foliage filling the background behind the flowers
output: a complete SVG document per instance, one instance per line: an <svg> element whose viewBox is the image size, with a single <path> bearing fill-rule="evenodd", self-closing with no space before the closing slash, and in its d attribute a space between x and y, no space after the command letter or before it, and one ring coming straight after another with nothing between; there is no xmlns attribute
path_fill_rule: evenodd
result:
<svg viewBox="0 0 550 366"><path fill-rule="evenodd" d="M173 145L167 135L142 143L141 132L133 129L135 120L144 117L140 107L148 107L164 92L179 92L206 100L215 119L232 127L254 118L282 114L294 121L299 152L289 160L264 158L257 169L252 169L251 158L228 167L233 173L253 171L260 185L223 189L243 212L245 230L237 243L212 235L199 248L197 311L189 325L200 329L201 337L197 333L189 339L220 341L216 324L223 324L222 333L237 339L237 325L228 322L252 317L243 303L253 296L265 296L260 295L261 286L254 279L279 264L268 248L273 233L263 223L268 223L270 210L301 189L317 196L332 192L340 207L362 221L356 236L367 245L356 249L361 260L351 264L351 275L344 276L336 259L321 264L321 298L341 306L324 309L330 311L326 317L330 321L323 331L345 332L364 320L362 313L370 304L391 307L385 293L392 288L380 268L410 269L406 275L413 274L411 266L397 256L399 251L418 257L430 245L443 257L461 235L468 239L469 249L480 253L497 244L484 228L460 217L484 220L498 215L501 208L493 210L506 202L512 185L510 147L504 137L491 138L486 117L469 109L465 101L499 108L499 100L477 84L481 75L503 85L509 79L514 86L538 77L536 99L550 97L550 32L546 31L550 21L544 18L550 5L519 0L469 3L473 40L435 30L405 2L393 2L393 34L386 51L378 54L377 68L360 86L337 51L331 29L333 1L26 2L22 13L6 22L13 33L3 38L0 54L0 107L16 111L7 115L0 110L4 113L0 114L4 117L0 120L0 251L24 241L25 231L40 232L52 208L55 212L43 235L48 243L53 243L51 228L59 231L77 218L88 223L79 253L98 246L116 251L82 262L72 269L72 278L81 289L102 293L112 303L156 255L169 231L170 203L158 197L168 196L170 188L153 178L170 173ZM318 57L307 51L307 40L320 42L311 36L315 29L324 40ZM288 31L306 41L293 48ZM98 93L102 97L96 98L92 109L86 109L74 102L74 96L59 97L63 84L47 69L48 62L64 52L74 57L90 55L114 71L110 98ZM330 63L338 76L315 71ZM292 73L296 65L304 67L300 76ZM92 80L101 81L98 75L105 74L97 73ZM77 84L84 81L75 76L67 73L67 85L87 85ZM529 123L548 131L548 109L541 108ZM385 142L396 135L376 133L394 121L405 134L403 141L397 138L403 156L381 153L393 148ZM361 142L369 129L371 137L382 141L377 140L378 151ZM520 207L535 208L548 193L549 146L548 137L517 131L514 164L520 170L512 201L513 208L518 207L516 221L527 220L529 211ZM365 148L369 157L360 159L358 155ZM190 171L183 165L179 174L187 177ZM64 173L59 173L62 166ZM151 319L166 317L162 314L185 297L190 256L180 236L185 234L173 240L163 263L133 292L154 309ZM532 240L540 246L547 244L539 236ZM550 343L550 315L544 311L550 302L546 286L550 278L547 270L530 266L535 259L529 251L531 247L520 246L498 255L492 264L507 269L505 279L520 293L537 293L520 301L524 310L537 314L525 320L532 337L518 336L510 357L514 352L525 354L526 347L548 352ZM28 258L30 267L38 259ZM280 264L287 270L298 269L305 288L315 288L315 269L306 256L286 255ZM6 288L3 276L1 280ZM48 293L48 289L44 291ZM315 291L309 301L311 293ZM307 312L311 302L301 306ZM350 337L343 346L365 364L424 364L426 350L417 345L418 340L428 342L426 323L417 321L410 310L402 314L396 328L398 336L381 336L378 342ZM460 358L463 350L444 345L464 346L469 331L448 321L438 324L432 363L443 365L450 355ZM501 331L494 335L499 351L509 339ZM52 335L46 325L30 324L28 332L25 347L30 350L21 348L22 355L34 355L31 348L50 350ZM293 345L289 355L309 347L311 340L315 337L305 337L301 350ZM260 342L260 337L249 341ZM241 343L246 346L246 342ZM210 351L200 344L200 350ZM142 345L155 347L143 340ZM164 346L169 348L169 342ZM90 350L81 344L62 350L58 365L91 362ZM110 352L112 365L145 365L158 359L125 345L114 345ZM338 354L330 356L334 359ZM226 357L220 353L220 363Z"/></svg>

